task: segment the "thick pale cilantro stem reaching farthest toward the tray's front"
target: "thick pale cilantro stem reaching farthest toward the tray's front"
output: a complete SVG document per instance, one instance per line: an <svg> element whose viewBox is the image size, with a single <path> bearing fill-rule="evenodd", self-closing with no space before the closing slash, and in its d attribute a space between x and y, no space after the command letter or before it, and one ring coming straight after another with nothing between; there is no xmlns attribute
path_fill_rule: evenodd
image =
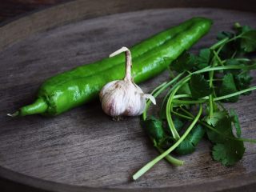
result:
<svg viewBox="0 0 256 192"><path fill-rule="evenodd" d="M187 136L187 134L190 133L190 130L194 127L196 122L198 122L198 119L200 118L202 114L202 105L200 105L199 111L197 116L194 118L193 122L190 124L190 126L187 128L185 133L182 135L181 138L178 139L177 142L174 143L173 146L171 146L168 150L166 150L164 153L160 154L158 157L154 158L152 161L148 162L146 166L143 166L142 169L138 170L137 173L133 175L133 179L136 180L140 178L143 174L146 173L146 171L150 170L156 163L158 163L162 158L165 158L167 154L170 154L171 151L173 151Z"/></svg>

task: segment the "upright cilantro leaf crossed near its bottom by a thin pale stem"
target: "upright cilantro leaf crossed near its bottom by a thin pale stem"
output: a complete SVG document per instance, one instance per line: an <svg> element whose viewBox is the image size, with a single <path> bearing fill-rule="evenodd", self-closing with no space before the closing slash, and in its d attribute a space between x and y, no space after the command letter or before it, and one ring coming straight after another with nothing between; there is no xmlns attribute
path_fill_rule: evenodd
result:
<svg viewBox="0 0 256 192"><path fill-rule="evenodd" d="M234 83L234 77L233 74L225 74L222 79L222 86L219 89L220 96L226 95L226 94L233 94L237 92L237 88ZM232 98L226 98L225 102L237 102L239 96L234 96Z"/></svg>

